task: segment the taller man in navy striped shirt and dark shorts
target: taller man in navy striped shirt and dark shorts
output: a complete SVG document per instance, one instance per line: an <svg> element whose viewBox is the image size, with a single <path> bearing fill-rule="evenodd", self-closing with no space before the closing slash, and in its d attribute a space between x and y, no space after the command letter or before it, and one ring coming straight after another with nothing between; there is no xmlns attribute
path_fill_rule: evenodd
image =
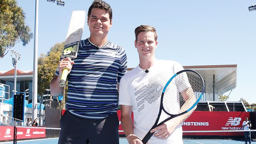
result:
<svg viewBox="0 0 256 144"><path fill-rule="evenodd" d="M118 144L117 83L127 71L126 53L107 40L112 26L109 4L95 0L87 24L90 37L80 42L77 58L62 59L50 83L52 95L60 94L62 71L69 69L68 101L58 143Z"/></svg>

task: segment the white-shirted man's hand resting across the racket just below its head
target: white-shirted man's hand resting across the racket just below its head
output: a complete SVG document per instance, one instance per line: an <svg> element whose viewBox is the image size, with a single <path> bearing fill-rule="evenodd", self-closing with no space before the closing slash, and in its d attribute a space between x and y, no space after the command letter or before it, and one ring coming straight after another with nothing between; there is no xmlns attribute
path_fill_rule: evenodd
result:
<svg viewBox="0 0 256 144"><path fill-rule="evenodd" d="M179 125L179 124L178 124ZM173 119L165 122L161 126L158 126L151 130L150 132L156 132L154 136L161 138L161 139L166 139L168 138L172 132L175 130L175 128L178 126L176 122L174 122ZM158 132L157 132L158 131Z"/></svg>

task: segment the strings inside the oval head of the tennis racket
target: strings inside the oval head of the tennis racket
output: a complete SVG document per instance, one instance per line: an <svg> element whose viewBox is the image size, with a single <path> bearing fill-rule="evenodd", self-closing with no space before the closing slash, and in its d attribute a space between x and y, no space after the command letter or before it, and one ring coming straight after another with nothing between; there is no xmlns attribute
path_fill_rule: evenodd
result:
<svg viewBox="0 0 256 144"><path fill-rule="evenodd" d="M190 71L178 74L168 84L162 105L169 114L180 114L191 108L202 93L203 80Z"/></svg>

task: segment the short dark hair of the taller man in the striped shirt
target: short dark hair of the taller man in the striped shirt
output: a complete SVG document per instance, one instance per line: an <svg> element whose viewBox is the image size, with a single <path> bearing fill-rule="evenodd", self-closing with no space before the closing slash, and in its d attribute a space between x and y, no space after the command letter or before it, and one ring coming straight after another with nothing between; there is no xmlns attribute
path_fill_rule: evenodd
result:
<svg viewBox="0 0 256 144"><path fill-rule="evenodd" d="M92 8L100 8L102 10L105 10L106 13L109 14L109 19L112 20L112 8L110 7L110 5L108 3L106 3L102 0L94 0L88 10L88 18L92 12Z"/></svg>

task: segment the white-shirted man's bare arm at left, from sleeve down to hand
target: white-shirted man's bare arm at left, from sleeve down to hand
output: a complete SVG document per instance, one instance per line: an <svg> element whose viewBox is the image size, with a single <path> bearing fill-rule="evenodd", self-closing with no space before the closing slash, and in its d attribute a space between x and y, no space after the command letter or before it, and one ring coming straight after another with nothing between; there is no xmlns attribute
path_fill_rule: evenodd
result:
<svg viewBox="0 0 256 144"><path fill-rule="evenodd" d="M121 105L121 124L129 144L143 144L134 134L131 118L132 106Z"/></svg>

